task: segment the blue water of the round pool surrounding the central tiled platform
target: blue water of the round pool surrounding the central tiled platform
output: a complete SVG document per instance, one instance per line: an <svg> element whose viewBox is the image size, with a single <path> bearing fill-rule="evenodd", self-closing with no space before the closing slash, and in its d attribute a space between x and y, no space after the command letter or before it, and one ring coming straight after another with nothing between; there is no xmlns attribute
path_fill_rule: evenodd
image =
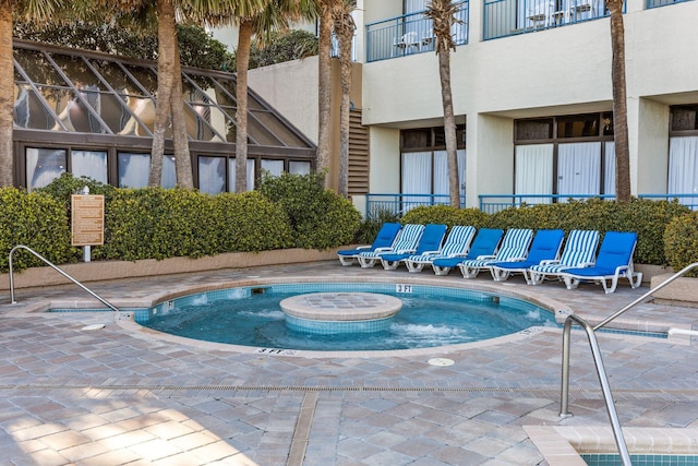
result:
<svg viewBox="0 0 698 466"><path fill-rule="evenodd" d="M323 335L289 330L279 301L321 291L398 297L402 309L387 330ZM230 288L160 303L136 314L144 326L189 338L305 350L425 348L494 338L531 326L557 326L553 313L482 291L395 284L292 284Z"/></svg>

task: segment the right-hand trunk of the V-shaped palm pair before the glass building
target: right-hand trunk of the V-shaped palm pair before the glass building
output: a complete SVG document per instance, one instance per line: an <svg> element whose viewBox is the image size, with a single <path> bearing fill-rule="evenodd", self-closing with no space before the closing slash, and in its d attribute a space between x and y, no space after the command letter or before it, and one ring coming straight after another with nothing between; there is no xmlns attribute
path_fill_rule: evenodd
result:
<svg viewBox="0 0 698 466"><path fill-rule="evenodd" d="M177 26L174 26L177 32ZM174 71L172 80L172 95L170 106L172 108L172 140L174 143L174 168L177 171L177 184L186 188L194 188L192 175L192 159L189 154L189 135L186 133L186 119L184 116L184 103L182 100L182 67L179 56L177 37L174 38Z"/></svg>

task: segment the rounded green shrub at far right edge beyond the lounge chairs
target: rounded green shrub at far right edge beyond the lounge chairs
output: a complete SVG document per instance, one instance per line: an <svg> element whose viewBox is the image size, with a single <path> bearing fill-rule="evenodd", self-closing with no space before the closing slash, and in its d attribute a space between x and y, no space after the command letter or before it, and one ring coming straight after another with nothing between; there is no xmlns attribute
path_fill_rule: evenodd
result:
<svg viewBox="0 0 698 466"><path fill-rule="evenodd" d="M698 212L674 217L664 231L664 254L675 272L698 262ZM693 270L686 276L698 276Z"/></svg>

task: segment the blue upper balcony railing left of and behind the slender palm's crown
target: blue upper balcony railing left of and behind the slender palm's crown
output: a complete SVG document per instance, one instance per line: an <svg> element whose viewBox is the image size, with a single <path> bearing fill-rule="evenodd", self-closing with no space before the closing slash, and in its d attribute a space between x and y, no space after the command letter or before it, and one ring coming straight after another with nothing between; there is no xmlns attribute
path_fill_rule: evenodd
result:
<svg viewBox="0 0 698 466"><path fill-rule="evenodd" d="M468 44L468 1L458 2L452 35L457 46ZM434 27L423 11L366 25L366 61L386 60L434 50Z"/></svg>

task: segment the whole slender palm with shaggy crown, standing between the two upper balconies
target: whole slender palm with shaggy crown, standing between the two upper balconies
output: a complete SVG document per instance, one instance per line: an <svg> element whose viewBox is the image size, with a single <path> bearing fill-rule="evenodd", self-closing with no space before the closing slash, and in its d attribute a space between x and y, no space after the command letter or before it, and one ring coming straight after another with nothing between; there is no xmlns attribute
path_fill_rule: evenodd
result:
<svg viewBox="0 0 698 466"><path fill-rule="evenodd" d="M434 50L438 57L438 76L441 79L441 97L444 107L444 134L446 139L446 160L448 166L448 194L450 205L460 206L460 189L458 183L458 141L456 139L456 117L450 92L450 50L456 51L456 44L450 35L458 5L450 0L432 0L424 13L434 24Z"/></svg>

